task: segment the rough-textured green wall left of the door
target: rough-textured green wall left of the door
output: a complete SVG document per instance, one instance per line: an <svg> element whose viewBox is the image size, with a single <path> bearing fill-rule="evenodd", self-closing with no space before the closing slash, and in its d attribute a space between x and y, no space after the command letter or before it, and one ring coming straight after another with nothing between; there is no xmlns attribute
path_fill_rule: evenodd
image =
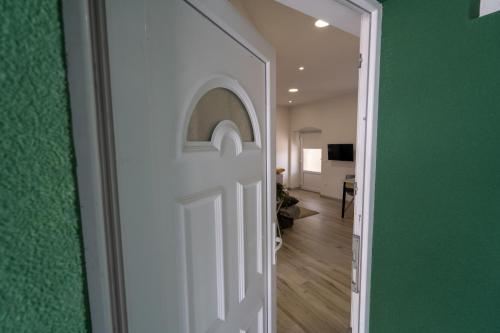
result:
<svg viewBox="0 0 500 333"><path fill-rule="evenodd" d="M0 332L88 332L58 0L0 0Z"/></svg>

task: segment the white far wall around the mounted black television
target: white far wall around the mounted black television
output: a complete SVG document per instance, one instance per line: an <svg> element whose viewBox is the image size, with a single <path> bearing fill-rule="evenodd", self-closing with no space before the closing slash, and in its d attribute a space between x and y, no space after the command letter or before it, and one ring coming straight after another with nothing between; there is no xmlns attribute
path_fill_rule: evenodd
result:
<svg viewBox="0 0 500 333"><path fill-rule="evenodd" d="M329 161L329 143L356 143L357 92L325 101L290 107L290 180L289 187L300 186L299 131L321 130L323 166L322 195L342 198L343 180L354 174L354 162ZM279 126L278 118L278 126Z"/></svg>

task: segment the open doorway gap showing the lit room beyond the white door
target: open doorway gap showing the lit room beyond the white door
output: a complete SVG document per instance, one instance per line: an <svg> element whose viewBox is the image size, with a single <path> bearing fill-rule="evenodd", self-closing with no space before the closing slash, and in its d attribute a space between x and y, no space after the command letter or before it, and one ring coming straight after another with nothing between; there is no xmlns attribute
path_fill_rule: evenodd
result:
<svg viewBox="0 0 500 333"><path fill-rule="evenodd" d="M293 1L230 2L276 51L277 332L346 332L361 15L339 27Z"/></svg>

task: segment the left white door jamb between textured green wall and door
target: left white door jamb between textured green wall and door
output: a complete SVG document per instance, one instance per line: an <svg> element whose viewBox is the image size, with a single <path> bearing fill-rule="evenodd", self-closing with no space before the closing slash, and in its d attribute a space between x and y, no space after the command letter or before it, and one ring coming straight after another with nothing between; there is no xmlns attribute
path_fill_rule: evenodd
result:
<svg viewBox="0 0 500 333"><path fill-rule="evenodd" d="M104 13L104 1L63 1L92 330L127 332Z"/></svg>

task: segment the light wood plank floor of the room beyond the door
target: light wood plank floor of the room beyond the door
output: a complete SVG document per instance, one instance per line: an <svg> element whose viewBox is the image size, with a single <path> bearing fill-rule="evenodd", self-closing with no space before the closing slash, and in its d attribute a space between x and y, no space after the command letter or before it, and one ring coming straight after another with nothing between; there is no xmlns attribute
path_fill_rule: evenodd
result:
<svg viewBox="0 0 500 333"><path fill-rule="evenodd" d="M291 191L319 215L283 230L278 253L278 333L345 333L350 321L353 209L316 193Z"/></svg>

